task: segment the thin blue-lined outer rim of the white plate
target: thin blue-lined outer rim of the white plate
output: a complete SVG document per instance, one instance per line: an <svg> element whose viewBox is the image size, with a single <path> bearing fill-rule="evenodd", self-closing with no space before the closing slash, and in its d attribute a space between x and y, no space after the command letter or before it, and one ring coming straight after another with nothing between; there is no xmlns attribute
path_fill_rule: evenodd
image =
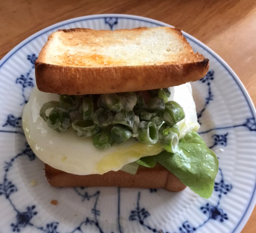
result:
<svg viewBox="0 0 256 233"><path fill-rule="evenodd" d="M7 62L18 50L20 50L22 47L27 45L33 39L41 36L42 34L48 32L48 31L59 28L60 26L65 26L69 23L85 21L85 20L101 19L101 18L104 19L106 17L117 17L117 18L121 18L121 19L133 19L133 20L139 20L139 21L144 21L144 22L148 22L148 23L154 23L154 24L156 24L156 26L173 27L171 24L161 22L159 20L155 20L155 19L148 18L148 17L137 16L137 15L130 15L130 14L96 14L96 15L93 14L93 15L74 17L71 19L63 20L63 21L57 22L55 24L52 24L52 25L30 35L23 41L21 41L18 45L16 45L13 49L11 49L8 53L6 53L2 57L2 59L0 60L0 69L5 64L5 62ZM198 40L194 36L184 32L184 31L182 31L182 33L184 34L184 36L186 38L190 39L191 41L196 43L198 46L200 46L201 48L203 48L204 50L209 52L223 66L223 68L228 71L228 73L233 78L233 80L236 82L236 84L239 86L242 94L244 95L245 101L247 102L253 117L256 118L256 110L255 110L254 104L252 102L252 99L249 96L248 91L246 90L242 81L239 79L237 74L231 69L231 67L222 59L222 57L220 57L217 53L215 53L211 48L209 48L207 45L202 43L200 40ZM0 82L1 81L2 80L0 79ZM255 207L255 204L256 204L256 192L255 191L256 191L256 181L255 181L255 185L254 185L254 190L252 192L252 196L250 198L250 201L248 202L245 212L243 213L240 221L237 223L237 225L232 230L232 233L241 232L241 230L244 228L246 222L250 218L250 216L253 212L253 209Z"/></svg>

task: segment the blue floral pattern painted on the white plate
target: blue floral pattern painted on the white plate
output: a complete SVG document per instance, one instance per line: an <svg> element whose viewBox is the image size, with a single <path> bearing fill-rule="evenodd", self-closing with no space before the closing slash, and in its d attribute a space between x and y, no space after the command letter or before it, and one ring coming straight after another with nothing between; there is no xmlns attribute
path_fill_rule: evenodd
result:
<svg viewBox="0 0 256 233"><path fill-rule="evenodd" d="M114 30L115 27L118 25L119 20L122 17L103 17L103 22L109 26L110 30ZM27 103L28 96L25 96L25 90L28 88L32 88L34 86L34 78L31 76L31 72L34 69L34 63L37 59L35 53L28 54L24 59L29 61L28 63L28 71L25 74L20 74L18 78L16 78L15 83L22 88L22 103L19 103L21 106ZM207 93L204 101L204 105L200 111L198 111L198 121L201 124L201 118L204 115L205 110L214 101L214 91L212 90L212 84L215 80L215 70L211 69L208 71L207 75L199 80L202 84L205 84L207 87ZM5 121L1 122L2 129L0 133L19 133L23 134L21 130L21 117L15 115L14 113L9 113L5 117ZM208 134L212 131L214 132L212 135L209 136L213 139L212 145L209 145L210 148L214 149L215 147L226 147L228 145L228 140L230 136L230 132L223 130L228 130L232 128L247 128L248 131L252 131L253 133L256 131L256 122L255 117L252 116L246 118L240 124L222 126L222 127L215 127L210 129L205 129L201 131L201 134ZM221 131L221 132L218 132ZM15 182L9 178L9 172L11 172L13 165L18 157L27 156L28 161L34 161L35 155L33 151L30 149L29 145L26 143L24 145L24 149L13 156L9 161L4 161L2 165L2 169L4 171L4 176L2 181L0 182L0 198L3 198L2 201L6 200L13 208L13 215L10 216L12 222L10 223L9 229L10 232L22 232L25 228L33 228L35 232L45 232L45 233L62 233L63 231L58 230L61 222L53 221L45 223L44 226L38 226L34 223L33 219L39 215L39 210L36 204L25 206L23 209L19 209L16 206L15 202L12 200L12 197L15 193L19 192L19 188ZM138 191L137 193L137 201L136 206L129 210L129 214L127 215L127 221L132 222L134 224L139 224L142 229L147 230L149 232L162 232L162 233L192 233L198 231L199 228L202 228L207 224L209 221L218 221L219 223L225 223L225 221L229 220L229 213L226 211L221 204L223 196L228 195L229 192L232 191L233 186L232 184L226 183L224 179L225 171L221 168L219 169L218 179L215 181L214 192L217 194L217 201L216 203L205 201L205 203L199 206L200 211L206 217L202 219L202 222L198 225L190 222L188 219L184 219L181 222L180 227L178 229L161 229L160 226L155 226L151 224L151 218L154 216L151 214L150 209L147 206L141 204L141 200L143 198L142 192ZM101 191L96 190L94 193L89 192L89 188L80 187L74 188L74 193L77 197L81 198L81 202L93 202L93 208L91 209L91 213L93 217L84 216L84 220L78 224L73 230L65 231L65 233L75 233L75 232L85 232L84 226L94 226L96 232L105 233L103 227L101 226L101 222L99 218L101 216L101 210L98 207L98 202L100 199ZM150 189L150 195L157 195L157 189ZM123 232L124 227L120 221L120 211L121 211L121 203L120 197L122 196L122 189L117 188L117 228L115 231L112 232ZM34 231L33 231L34 232ZM64 233L64 232L63 232Z"/></svg>

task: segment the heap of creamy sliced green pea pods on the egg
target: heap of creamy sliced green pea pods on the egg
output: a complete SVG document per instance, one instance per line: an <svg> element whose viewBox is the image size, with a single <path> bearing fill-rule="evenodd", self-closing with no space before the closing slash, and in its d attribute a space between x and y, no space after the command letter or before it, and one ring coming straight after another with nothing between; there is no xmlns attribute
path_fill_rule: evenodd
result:
<svg viewBox="0 0 256 233"><path fill-rule="evenodd" d="M180 134L176 123L184 119L184 110L175 101L168 101L171 95L170 88L148 92L152 97L148 104L145 104L139 91L84 95L83 101L82 96L60 95L59 102L50 101L42 106L40 116L50 128L58 132L66 131L72 125L76 136L93 136L97 148L108 148L114 142L122 144L130 137L135 137L143 143L154 144L159 137L163 147L174 153ZM95 101L98 101L99 109L94 112ZM133 112L134 108L136 115ZM53 110L46 116L48 109ZM115 112L114 117L111 111ZM70 114L74 115L72 124ZM80 117L77 117L77 114ZM111 132L100 131L100 128L108 127L110 124L114 125ZM161 126L159 131L158 126Z"/></svg>

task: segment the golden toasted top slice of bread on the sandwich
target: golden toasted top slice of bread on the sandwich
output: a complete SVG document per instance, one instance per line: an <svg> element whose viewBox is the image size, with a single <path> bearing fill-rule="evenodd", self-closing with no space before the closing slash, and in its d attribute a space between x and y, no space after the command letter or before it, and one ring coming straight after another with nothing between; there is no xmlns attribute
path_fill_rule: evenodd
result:
<svg viewBox="0 0 256 233"><path fill-rule="evenodd" d="M179 29L58 30L35 62L39 90L103 94L180 85L202 78L209 61Z"/></svg>

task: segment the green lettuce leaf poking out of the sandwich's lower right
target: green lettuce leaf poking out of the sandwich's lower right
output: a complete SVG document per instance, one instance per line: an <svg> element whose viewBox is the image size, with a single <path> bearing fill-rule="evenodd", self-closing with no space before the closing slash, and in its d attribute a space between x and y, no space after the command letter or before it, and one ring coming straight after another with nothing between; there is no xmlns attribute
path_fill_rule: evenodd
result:
<svg viewBox="0 0 256 233"><path fill-rule="evenodd" d="M147 161L146 164L149 160L155 160L199 196L211 197L219 163L216 154L207 148L198 133L191 131L181 139L174 154L162 151L160 154L143 157L140 160L142 159Z"/></svg>

